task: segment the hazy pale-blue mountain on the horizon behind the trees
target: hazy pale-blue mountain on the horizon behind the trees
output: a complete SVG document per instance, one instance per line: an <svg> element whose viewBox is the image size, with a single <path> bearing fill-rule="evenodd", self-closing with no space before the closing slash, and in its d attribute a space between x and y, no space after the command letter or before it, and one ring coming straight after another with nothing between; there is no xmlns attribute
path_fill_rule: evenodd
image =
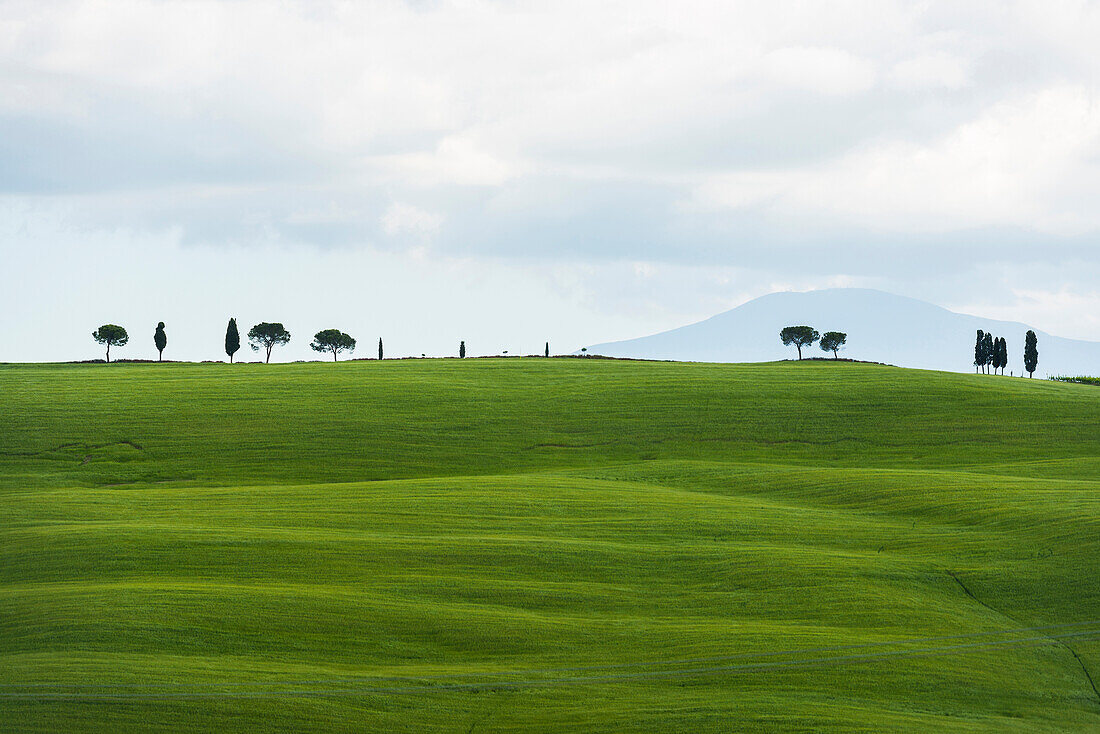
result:
<svg viewBox="0 0 1100 734"><path fill-rule="evenodd" d="M867 288L772 293L705 321L649 337L593 344L590 354L696 362L767 362L793 359L779 330L805 324L821 332L845 331L842 357L899 366L954 372L974 371L978 329L1009 343L1005 372L1023 372L1024 333L1013 321L956 314L923 300ZM1038 370L1048 374L1100 374L1100 342L1063 339L1035 329ZM803 355L824 357L815 344Z"/></svg>

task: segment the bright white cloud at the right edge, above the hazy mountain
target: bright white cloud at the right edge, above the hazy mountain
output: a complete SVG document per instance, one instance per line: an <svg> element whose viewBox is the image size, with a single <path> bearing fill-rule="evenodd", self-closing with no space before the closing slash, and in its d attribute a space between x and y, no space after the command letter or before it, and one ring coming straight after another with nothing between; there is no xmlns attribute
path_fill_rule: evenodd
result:
<svg viewBox="0 0 1100 734"><path fill-rule="evenodd" d="M883 231L1019 226L1052 235L1100 228L1100 95L1059 86L1013 97L949 133L887 140L810 168L718 174L712 207L766 207Z"/></svg>

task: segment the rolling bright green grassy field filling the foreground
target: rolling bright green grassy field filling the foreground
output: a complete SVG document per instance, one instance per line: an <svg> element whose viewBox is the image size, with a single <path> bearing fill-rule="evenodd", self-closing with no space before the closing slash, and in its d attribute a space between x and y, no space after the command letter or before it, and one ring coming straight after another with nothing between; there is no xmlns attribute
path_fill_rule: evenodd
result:
<svg viewBox="0 0 1100 734"><path fill-rule="evenodd" d="M0 365L3 731L1098 731L1100 391Z"/></svg>

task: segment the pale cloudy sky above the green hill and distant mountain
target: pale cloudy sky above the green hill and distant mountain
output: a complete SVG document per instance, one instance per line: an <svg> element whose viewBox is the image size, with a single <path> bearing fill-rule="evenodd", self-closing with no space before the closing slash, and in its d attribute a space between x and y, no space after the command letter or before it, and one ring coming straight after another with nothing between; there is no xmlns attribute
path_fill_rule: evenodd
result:
<svg viewBox="0 0 1100 734"><path fill-rule="evenodd" d="M0 361L554 352L875 287L1100 340L1100 4L0 0ZM255 359L248 354L248 359Z"/></svg>

